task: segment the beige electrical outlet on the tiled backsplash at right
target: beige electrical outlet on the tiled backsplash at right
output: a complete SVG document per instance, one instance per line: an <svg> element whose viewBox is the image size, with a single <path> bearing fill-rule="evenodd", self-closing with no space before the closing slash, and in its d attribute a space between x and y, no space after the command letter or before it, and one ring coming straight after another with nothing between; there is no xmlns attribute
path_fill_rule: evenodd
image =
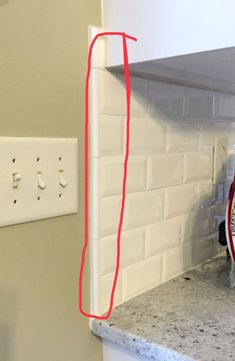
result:
<svg viewBox="0 0 235 361"><path fill-rule="evenodd" d="M228 137L215 137L213 183L226 180L228 166Z"/></svg>

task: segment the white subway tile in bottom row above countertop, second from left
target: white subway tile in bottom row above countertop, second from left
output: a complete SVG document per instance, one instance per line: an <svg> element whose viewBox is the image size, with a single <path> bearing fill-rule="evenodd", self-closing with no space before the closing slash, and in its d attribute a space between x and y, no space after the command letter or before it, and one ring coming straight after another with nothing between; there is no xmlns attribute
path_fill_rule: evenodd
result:
<svg viewBox="0 0 235 361"><path fill-rule="evenodd" d="M125 300L159 285L162 281L162 255L147 258L123 269Z"/></svg>

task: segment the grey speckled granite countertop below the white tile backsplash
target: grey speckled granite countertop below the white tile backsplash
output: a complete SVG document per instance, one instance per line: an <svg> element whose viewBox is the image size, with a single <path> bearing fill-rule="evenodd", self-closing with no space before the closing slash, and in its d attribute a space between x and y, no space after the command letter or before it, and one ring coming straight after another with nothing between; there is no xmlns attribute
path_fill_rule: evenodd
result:
<svg viewBox="0 0 235 361"><path fill-rule="evenodd" d="M218 257L125 302L92 332L154 361L235 360L235 289Z"/></svg>

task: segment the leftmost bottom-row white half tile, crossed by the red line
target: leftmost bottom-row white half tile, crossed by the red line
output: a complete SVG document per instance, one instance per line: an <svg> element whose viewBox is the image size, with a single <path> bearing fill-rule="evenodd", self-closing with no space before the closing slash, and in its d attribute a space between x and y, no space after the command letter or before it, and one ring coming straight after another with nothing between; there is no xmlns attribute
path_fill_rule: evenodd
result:
<svg viewBox="0 0 235 361"><path fill-rule="evenodd" d="M107 273L100 277L100 313L103 314L107 312L109 308L110 303L110 295L113 285L113 279L114 279L114 272ZM123 297L122 297L122 271L119 272L116 291L115 291L115 297L114 297L114 306L119 305L122 303Z"/></svg>

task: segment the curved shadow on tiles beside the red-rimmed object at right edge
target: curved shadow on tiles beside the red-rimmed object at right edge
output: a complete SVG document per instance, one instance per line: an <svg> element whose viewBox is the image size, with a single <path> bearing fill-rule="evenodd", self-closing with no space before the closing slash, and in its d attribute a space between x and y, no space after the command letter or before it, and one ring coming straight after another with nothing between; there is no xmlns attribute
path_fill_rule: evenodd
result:
<svg viewBox="0 0 235 361"><path fill-rule="evenodd" d="M183 228L183 271L212 259L222 251L218 243L218 226L225 219L226 197L224 180L208 185L208 193L199 195L186 216ZM210 189L211 188L211 189Z"/></svg>

